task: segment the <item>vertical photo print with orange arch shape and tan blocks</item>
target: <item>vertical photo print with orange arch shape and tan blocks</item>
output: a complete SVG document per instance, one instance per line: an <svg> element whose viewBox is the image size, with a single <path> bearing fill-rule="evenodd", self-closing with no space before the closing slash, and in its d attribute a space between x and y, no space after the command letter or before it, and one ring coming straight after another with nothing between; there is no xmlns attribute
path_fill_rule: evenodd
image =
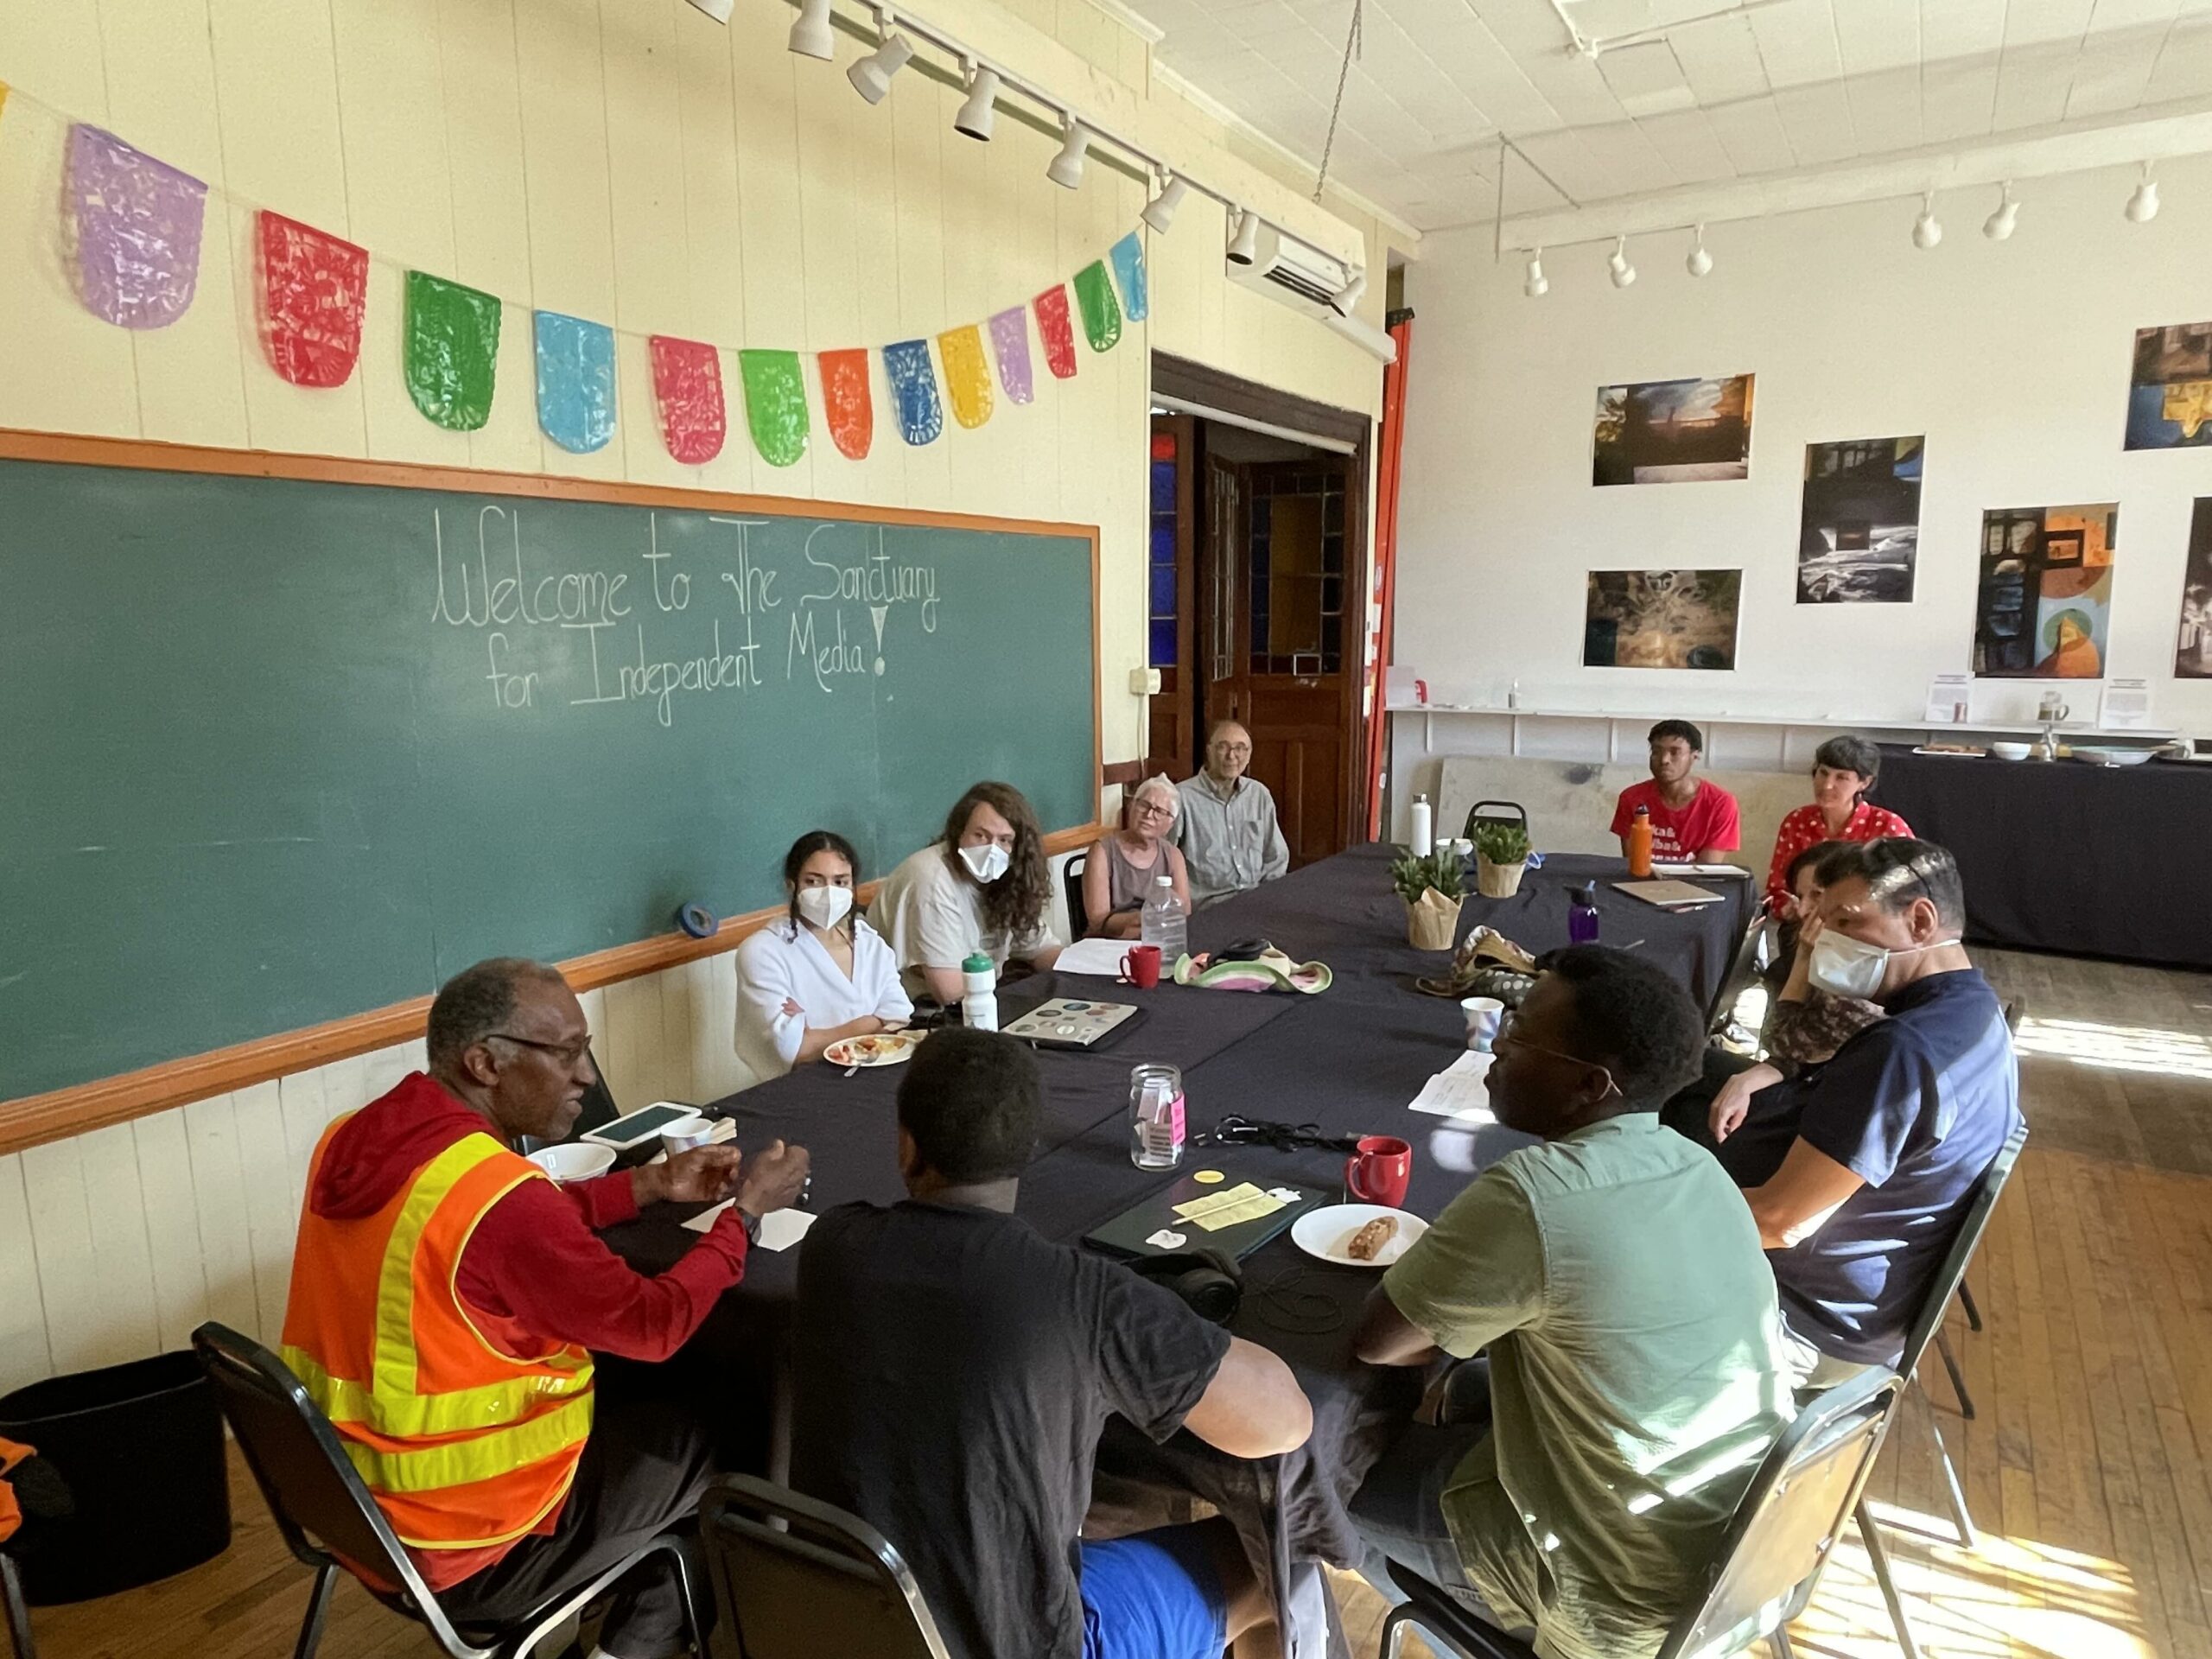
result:
<svg viewBox="0 0 2212 1659"><path fill-rule="evenodd" d="M2119 507L2000 507L1982 513L1973 672L2099 679L2112 630Z"/></svg>

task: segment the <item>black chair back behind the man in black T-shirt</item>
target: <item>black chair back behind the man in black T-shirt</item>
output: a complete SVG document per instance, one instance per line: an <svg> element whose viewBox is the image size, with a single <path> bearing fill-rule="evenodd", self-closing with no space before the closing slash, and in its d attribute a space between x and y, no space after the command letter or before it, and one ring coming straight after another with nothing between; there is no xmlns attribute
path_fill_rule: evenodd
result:
<svg viewBox="0 0 2212 1659"><path fill-rule="evenodd" d="M947 1659L914 1573L858 1515L723 1475L699 1504L699 1542L726 1659Z"/></svg>

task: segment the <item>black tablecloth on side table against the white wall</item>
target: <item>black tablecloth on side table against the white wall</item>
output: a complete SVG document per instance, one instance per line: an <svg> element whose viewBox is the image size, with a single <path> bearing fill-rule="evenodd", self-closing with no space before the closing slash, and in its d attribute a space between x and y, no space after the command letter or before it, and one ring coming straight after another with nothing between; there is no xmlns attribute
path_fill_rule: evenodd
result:
<svg viewBox="0 0 2212 1659"><path fill-rule="evenodd" d="M2212 765L1885 748L1874 799L1958 858L1971 942L2212 969Z"/></svg>

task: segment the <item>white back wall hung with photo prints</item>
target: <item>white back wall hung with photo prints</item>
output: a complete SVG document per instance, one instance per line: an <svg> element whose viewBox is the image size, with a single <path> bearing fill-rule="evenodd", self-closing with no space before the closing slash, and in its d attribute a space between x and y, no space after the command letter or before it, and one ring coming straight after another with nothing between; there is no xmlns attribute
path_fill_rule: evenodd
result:
<svg viewBox="0 0 2212 1659"><path fill-rule="evenodd" d="M1396 661L1438 701L1504 706L1517 679L1535 710L1913 721L1933 675L1969 668L1982 509L2117 500L2108 670L2150 677L2157 726L2212 732L2212 681L2172 675L2212 449L2119 447L2135 330L2208 314L2212 159L2159 168L2148 226L2121 219L2132 184L2024 184L2004 243L1980 234L1995 190L1944 195L1929 252L1913 204L1714 226L1703 281L1688 237L1644 237L1621 292L1606 250L1555 250L1540 301L1489 234L1429 237L1407 274ZM1590 487L1599 385L1743 372L1747 480ZM1913 604L1798 606L1805 445L1893 434L1927 434ZM1743 568L1739 668L1582 668L1584 573L1668 566ZM1973 717L2033 717L2051 684L1980 681ZM2095 688L2068 701L2095 717Z"/></svg>

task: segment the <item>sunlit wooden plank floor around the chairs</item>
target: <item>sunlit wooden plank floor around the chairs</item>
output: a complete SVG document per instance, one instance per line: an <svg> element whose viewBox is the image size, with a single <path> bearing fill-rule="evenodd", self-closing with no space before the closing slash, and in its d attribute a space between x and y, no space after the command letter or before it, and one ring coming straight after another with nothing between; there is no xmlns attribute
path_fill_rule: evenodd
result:
<svg viewBox="0 0 2212 1659"><path fill-rule="evenodd" d="M1953 1318L1978 1416L1931 1363L1876 1473L1929 1659L2212 1659L2212 978L1982 953L2026 1006L2033 1126L1973 1270L1989 1329ZM1942 1427L1980 1548L1951 1533L1927 1433ZM281 1659L305 1604L259 1495L230 1553L148 1590L35 1615L44 1659ZM1380 1599L1338 1575L1354 1655ZM1851 1537L1792 1639L1891 1655ZM343 1584L325 1659L436 1648ZM1427 1652L1418 1641L1409 1655Z"/></svg>

